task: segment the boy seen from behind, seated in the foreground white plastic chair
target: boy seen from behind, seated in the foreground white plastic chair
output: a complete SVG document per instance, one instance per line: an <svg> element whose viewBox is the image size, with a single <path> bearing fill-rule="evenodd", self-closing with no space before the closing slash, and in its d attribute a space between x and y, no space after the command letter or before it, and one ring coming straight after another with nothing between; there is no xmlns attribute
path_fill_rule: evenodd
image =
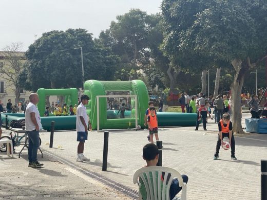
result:
<svg viewBox="0 0 267 200"><path fill-rule="evenodd" d="M143 159L146 161L146 164L147 164L145 167L157 166L158 159L159 159L158 147L153 143L149 143L149 144L145 145L143 147ZM163 187L163 181L164 181L163 177L164 177L164 173L161 174L161 180L158 180L157 179L158 178L158 172L156 172L156 179L157 179L156 185L158 185L158 181L160 181L161 182L161 188ZM147 179L147 176L145 176L145 178ZM149 173L149 178L152 179L152 173ZM188 182L188 176L187 175L182 175L182 178L183 178L184 183ZM142 181L142 178L139 178L139 181L141 184L141 187L139 188L140 193L142 195L142 198L146 199L147 194L146 194L146 189L145 189L145 185ZM167 187L167 185L165 185L164 187ZM182 187L179 187L178 179L174 178L170 184L170 189L169 189L170 199L173 199L176 196L176 194L178 194L181 190L182 190Z"/></svg>

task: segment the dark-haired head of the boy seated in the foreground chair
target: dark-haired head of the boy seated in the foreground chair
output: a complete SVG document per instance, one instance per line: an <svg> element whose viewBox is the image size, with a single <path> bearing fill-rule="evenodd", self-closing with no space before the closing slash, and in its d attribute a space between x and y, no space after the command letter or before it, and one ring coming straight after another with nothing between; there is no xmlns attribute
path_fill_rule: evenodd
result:
<svg viewBox="0 0 267 200"><path fill-rule="evenodd" d="M147 167L156 166L159 160L159 149L153 143L146 144L143 147L143 159L146 161Z"/></svg>

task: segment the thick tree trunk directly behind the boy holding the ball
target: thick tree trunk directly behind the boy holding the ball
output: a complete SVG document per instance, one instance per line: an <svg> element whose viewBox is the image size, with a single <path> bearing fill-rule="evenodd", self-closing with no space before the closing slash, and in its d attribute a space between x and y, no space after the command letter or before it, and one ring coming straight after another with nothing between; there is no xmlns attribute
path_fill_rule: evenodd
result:
<svg viewBox="0 0 267 200"><path fill-rule="evenodd" d="M244 83L245 72L249 70L247 62L242 62L240 59L235 59L232 62L235 68L236 74L234 81L231 84L232 91L232 123L233 133L244 133L241 124L241 91Z"/></svg>

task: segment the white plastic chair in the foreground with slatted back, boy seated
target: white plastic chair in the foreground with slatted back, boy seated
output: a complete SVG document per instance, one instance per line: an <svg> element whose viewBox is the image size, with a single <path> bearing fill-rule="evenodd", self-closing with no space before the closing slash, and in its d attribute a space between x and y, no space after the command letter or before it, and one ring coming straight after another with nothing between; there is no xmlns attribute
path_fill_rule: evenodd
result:
<svg viewBox="0 0 267 200"><path fill-rule="evenodd" d="M152 174L152 179L149 178L149 172ZM156 179L156 172L158 172L158 183ZM163 177L163 187L161 191L161 174L162 172L165 172L165 175ZM147 179L145 178L144 174ZM167 177L169 177L169 181L167 183L167 187L164 187L166 185ZM170 189L170 184L173 181L175 177L178 179L179 186L182 186L182 197L180 198L181 200L186 200L186 183L183 183L183 178L181 174L171 168L168 167L143 167L139 170L136 171L136 173L133 175L133 183L139 184L139 189L140 189L140 183L138 181L138 177L142 179L145 189L146 189L146 194L147 198L145 200L169 200L169 189ZM157 187L158 185L158 187ZM157 191L158 188L158 191ZM139 199L143 199L142 195L139 190Z"/></svg>

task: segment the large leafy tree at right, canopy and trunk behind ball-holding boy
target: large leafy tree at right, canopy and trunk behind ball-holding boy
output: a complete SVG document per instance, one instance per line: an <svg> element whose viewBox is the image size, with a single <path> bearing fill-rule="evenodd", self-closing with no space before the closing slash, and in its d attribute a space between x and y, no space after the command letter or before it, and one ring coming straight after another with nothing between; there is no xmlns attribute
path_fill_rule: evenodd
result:
<svg viewBox="0 0 267 200"><path fill-rule="evenodd" d="M260 64L267 49L267 2L264 0L192 0L162 2L167 44L232 64L233 131L243 133L240 94L246 71ZM194 54L193 54L194 55Z"/></svg>

